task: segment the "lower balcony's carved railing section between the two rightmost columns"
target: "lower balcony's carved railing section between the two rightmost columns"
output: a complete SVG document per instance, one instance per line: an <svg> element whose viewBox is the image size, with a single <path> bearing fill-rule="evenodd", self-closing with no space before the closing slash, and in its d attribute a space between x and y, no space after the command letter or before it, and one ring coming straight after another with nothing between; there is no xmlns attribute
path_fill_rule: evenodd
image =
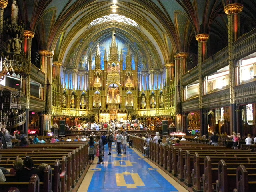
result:
<svg viewBox="0 0 256 192"><path fill-rule="evenodd" d="M202 96L202 106L204 108L228 104L230 104L229 89L219 90Z"/></svg>

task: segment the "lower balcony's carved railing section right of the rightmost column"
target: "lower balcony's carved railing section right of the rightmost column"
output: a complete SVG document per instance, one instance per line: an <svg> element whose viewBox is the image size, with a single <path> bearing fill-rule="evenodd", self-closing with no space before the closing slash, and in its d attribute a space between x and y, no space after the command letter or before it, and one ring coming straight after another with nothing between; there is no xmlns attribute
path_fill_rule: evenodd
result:
<svg viewBox="0 0 256 192"><path fill-rule="evenodd" d="M256 81L248 82L234 87L235 102L255 102L256 101Z"/></svg>

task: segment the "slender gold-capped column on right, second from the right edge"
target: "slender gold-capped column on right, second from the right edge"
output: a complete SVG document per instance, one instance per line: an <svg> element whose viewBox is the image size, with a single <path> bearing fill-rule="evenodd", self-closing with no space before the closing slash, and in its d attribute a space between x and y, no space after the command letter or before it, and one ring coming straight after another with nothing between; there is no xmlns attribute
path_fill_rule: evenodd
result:
<svg viewBox="0 0 256 192"><path fill-rule="evenodd" d="M202 95L203 95L203 76L202 76L202 62L207 58L207 40L209 39L209 34L198 34L196 35L196 40L198 41L198 76L199 76L199 113L200 113L200 132L206 134L204 128L204 115L202 108Z"/></svg>

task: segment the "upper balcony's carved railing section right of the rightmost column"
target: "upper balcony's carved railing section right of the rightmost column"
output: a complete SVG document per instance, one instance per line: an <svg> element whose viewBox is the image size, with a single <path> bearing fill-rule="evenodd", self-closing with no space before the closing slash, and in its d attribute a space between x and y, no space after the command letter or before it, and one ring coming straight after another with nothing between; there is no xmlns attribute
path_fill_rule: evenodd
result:
<svg viewBox="0 0 256 192"><path fill-rule="evenodd" d="M233 58L242 58L250 53L254 53L256 49L256 29L241 36L238 40L232 43Z"/></svg>

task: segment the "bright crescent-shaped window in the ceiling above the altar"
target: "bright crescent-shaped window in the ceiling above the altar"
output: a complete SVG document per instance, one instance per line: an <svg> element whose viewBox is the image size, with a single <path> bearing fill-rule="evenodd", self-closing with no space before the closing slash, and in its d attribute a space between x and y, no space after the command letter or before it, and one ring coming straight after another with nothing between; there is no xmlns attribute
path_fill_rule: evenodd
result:
<svg viewBox="0 0 256 192"><path fill-rule="evenodd" d="M127 18L126 16L123 15L118 15L118 14L110 14L110 15L104 15L100 18L94 19L92 22L90 22L89 25L97 25L100 23L104 23L104 22L109 22L109 21L117 21L117 22L122 22L122 23L126 23L129 24L131 26L134 27L138 27L138 23L136 23L134 20Z"/></svg>

